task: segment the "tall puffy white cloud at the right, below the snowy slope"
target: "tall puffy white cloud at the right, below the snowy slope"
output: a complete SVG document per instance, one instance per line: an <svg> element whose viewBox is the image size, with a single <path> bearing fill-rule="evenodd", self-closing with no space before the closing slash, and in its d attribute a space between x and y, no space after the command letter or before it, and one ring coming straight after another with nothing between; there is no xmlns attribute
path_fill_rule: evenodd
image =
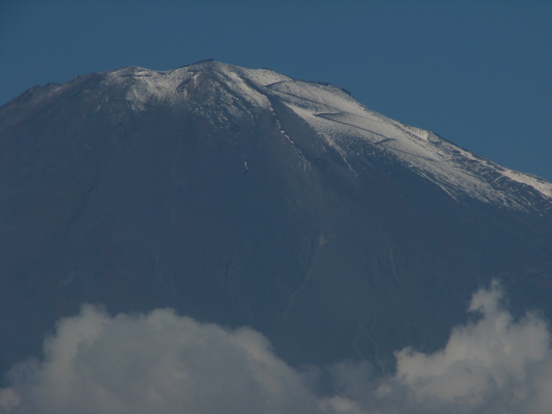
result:
<svg viewBox="0 0 552 414"><path fill-rule="evenodd" d="M397 371L386 380L348 387L366 413L552 413L552 351L544 320L515 320L502 306L497 282L473 295L476 322L453 329L445 348L396 352ZM351 375L349 370L344 370ZM365 376L368 378L367 376Z"/></svg>

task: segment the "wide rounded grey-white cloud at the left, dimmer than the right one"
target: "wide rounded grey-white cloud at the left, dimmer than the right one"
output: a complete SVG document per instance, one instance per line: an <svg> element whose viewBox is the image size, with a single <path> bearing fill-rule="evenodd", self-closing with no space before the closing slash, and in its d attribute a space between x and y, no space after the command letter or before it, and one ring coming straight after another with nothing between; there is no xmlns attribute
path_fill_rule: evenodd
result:
<svg viewBox="0 0 552 414"><path fill-rule="evenodd" d="M13 413L314 413L301 377L259 333L199 324L170 310L62 319L44 362L12 371ZM19 404L18 404L19 402Z"/></svg>

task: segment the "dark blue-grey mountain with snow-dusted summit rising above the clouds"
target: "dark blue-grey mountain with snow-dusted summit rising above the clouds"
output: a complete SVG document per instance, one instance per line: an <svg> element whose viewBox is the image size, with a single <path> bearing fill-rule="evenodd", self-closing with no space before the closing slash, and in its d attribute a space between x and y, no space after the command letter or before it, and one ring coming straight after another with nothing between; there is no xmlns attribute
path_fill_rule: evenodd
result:
<svg viewBox="0 0 552 414"><path fill-rule="evenodd" d="M337 86L201 61L0 108L0 369L83 303L251 326L286 362L443 346L471 293L552 316L552 184Z"/></svg>

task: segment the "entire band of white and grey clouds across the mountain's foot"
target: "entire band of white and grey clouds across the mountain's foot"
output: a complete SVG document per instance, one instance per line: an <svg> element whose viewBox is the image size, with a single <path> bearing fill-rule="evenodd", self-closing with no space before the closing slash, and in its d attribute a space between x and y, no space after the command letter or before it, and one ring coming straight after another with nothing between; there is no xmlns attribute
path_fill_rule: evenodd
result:
<svg viewBox="0 0 552 414"><path fill-rule="evenodd" d="M250 328L169 309L110 317L86 305L58 322L43 361L12 368L0 413L551 413L549 328L537 313L514 319L502 297L496 282L479 290L469 306L476 322L454 328L437 353L398 351L391 377L353 362L308 375ZM323 371L331 395L313 386Z"/></svg>

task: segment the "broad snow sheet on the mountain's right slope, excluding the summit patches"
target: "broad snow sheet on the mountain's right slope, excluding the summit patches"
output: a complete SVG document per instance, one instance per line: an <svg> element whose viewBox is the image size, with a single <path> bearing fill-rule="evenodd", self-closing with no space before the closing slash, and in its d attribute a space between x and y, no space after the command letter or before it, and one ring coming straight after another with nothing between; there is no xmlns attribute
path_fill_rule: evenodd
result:
<svg viewBox="0 0 552 414"><path fill-rule="evenodd" d="M355 150L359 151L356 155L362 156L362 145L352 146L352 140L366 140L455 198L464 193L524 210L523 200L501 191L504 184L497 183L501 179L529 186L543 199L552 198L552 184L543 179L502 168L432 132L383 117L335 86L284 81L269 88L329 144L339 148L345 159Z"/></svg>

